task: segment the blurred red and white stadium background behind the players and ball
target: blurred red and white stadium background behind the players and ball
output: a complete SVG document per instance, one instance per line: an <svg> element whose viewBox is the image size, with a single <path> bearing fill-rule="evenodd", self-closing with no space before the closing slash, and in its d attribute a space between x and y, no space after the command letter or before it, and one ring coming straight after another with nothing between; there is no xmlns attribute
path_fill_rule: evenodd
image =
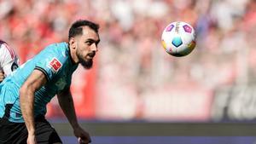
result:
<svg viewBox="0 0 256 144"><path fill-rule="evenodd" d="M80 123L96 144L255 144L255 0L0 0L0 38L20 63L67 41L74 20L100 24L95 66L73 74ZM167 55L170 22L195 27L196 49ZM76 143L56 99L48 119Z"/></svg>

